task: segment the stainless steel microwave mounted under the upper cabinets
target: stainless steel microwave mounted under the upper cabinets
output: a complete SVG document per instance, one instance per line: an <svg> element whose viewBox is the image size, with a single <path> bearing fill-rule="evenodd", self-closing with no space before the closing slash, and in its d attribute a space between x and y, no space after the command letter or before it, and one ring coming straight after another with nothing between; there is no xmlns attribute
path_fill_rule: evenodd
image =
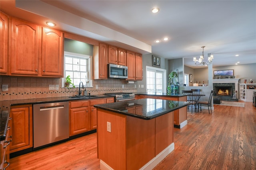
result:
<svg viewBox="0 0 256 170"><path fill-rule="evenodd" d="M108 64L108 78L128 78L127 74L127 66Z"/></svg>

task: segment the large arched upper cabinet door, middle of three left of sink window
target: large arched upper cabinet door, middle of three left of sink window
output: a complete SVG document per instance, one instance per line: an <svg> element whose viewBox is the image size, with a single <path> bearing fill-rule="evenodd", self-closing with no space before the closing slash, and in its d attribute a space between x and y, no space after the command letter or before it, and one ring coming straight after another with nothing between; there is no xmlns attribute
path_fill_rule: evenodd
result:
<svg viewBox="0 0 256 170"><path fill-rule="evenodd" d="M42 27L15 18L10 18L9 23L11 27L10 73L12 75L38 75Z"/></svg>

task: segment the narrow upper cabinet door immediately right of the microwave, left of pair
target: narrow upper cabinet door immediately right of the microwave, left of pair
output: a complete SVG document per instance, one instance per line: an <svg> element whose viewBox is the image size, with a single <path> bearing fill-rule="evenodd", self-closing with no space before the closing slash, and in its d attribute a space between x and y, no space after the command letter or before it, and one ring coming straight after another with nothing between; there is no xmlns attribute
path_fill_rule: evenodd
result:
<svg viewBox="0 0 256 170"><path fill-rule="evenodd" d="M128 66L128 78L127 80L135 80L135 53L127 51L127 66Z"/></svg>

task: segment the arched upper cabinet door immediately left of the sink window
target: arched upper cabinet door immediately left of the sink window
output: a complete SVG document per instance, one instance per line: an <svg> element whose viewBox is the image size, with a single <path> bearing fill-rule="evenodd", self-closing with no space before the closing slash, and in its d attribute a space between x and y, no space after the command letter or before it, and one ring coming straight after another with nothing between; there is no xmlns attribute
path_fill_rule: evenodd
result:
<svg viewBox="0 0 256 170"><path fill-rule="evenodd" d="M42 76L63 77L63 33L42 29Z"/></svg>

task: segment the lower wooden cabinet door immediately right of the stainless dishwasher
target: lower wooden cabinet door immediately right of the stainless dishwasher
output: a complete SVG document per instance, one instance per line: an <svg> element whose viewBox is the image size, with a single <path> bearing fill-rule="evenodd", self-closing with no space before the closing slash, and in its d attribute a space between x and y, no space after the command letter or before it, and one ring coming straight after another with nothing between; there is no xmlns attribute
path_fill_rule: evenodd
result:
<svg viewBox="0 0 256 170"><path fill-rule="evenodd" d="M70 109L70 136L90 130L88 107Z"/></svg>

